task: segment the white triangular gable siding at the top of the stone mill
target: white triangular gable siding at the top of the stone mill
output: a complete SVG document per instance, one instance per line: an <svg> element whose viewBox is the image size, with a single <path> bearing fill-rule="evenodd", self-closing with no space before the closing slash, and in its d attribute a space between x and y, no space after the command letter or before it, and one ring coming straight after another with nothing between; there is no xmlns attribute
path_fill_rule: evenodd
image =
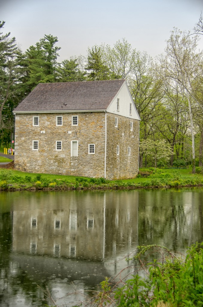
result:
<svg viewBox="0 0 203 307"><path fill-rule="evenodd" d="M117 111L117 98L119 99L119 111ZM130 115L130 103L132 103L132 115ZM140 120L126 83L123 84L106 111L115 115Z"/></svg>

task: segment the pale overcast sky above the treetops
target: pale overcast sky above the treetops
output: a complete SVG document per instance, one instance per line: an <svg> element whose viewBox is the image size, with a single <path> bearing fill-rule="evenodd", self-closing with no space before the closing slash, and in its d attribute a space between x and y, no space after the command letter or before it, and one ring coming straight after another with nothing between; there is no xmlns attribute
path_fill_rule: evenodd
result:
<svg viewBox="0 0 203 307"><path fill-rule="evenodd" d="M22 51L52 34L61 47L59 61L86 56L94 45L113 47L122 38L132 48L158 56L173 27L192 30L201 11L203 0L0 1L0 20L6 22L3 33L16 37Z"/></svg>

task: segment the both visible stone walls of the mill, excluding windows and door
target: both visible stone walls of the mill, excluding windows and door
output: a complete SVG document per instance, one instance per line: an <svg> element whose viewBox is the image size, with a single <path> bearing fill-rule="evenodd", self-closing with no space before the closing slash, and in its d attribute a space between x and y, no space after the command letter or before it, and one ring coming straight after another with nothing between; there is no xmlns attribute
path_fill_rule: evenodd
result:
<svg viewBox="0 0 203 307"><path fill-rule="evenodd" d="M72 115L79 116L78 126L71 125ZM39 116L39 126L33 126L33 116ZM56 116L63 116L63 126L56 126ZM107 113L106 178L132 178L138 172L139 121L117 117L115 128L115 115ZM33 140L39 141L38 150L33 150ZM61 151L56 150L56 141L62 141ZM78 141L78 157L71 157L71 141ZM95 154L88 153L88 144L95 144ZM17 114L15 168L31 173L105 177L105 113Z"/></svg>

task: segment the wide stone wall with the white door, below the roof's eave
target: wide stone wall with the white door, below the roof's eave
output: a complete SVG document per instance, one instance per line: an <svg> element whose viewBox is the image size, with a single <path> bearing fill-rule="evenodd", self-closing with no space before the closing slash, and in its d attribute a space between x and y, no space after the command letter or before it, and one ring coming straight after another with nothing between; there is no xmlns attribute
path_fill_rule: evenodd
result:
<svg viewBox="0 0 203 307"><path fill-rule="evenodd" d="M63 126L56 126L56 116L61 115ZM79 115L78 126L71 125L71 115ZM39 116L39 126L33 126L33 116ZM33 150L33 140L39 141L39 150ZM61 151L56 151L56 141L62 141ZM71 141L78 141L78 157L71 157ZM95 144L95 154L88 154L88 144ZM104 177L104 156L104 112L16 116L16 169L33 173Z"/></svg>

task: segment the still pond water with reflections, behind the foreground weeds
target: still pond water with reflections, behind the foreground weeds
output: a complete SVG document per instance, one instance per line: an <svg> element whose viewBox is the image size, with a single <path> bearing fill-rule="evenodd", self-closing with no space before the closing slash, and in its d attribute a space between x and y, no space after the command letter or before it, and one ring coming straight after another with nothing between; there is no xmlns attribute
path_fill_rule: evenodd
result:
<svg viewBox="0 0 203 307"><path fill-rule="evenodd" d="M202 241L203 188L2 192L0 306L53 305L47 289L73 306L120 278L137 245L185 253Z"/></svg>

